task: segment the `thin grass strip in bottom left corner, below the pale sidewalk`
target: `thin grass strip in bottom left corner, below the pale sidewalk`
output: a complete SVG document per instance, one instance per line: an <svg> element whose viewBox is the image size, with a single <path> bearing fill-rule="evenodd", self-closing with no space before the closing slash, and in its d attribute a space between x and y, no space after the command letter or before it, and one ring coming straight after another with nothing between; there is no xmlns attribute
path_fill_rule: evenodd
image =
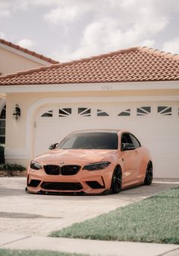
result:
<svg viewBox="0 0 179 256"><path fill-rule="evenodd" d="M0 256L85 256L85 254L70 254L59 251L30 251L0 249Z"/></svg>

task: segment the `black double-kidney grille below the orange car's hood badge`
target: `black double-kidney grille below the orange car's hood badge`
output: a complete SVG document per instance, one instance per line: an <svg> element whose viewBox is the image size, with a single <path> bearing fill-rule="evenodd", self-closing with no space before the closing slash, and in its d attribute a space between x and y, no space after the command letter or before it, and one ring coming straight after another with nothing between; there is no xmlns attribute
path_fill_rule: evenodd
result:
<svg viewBox="0 0 179 256"><path fill-rule="evenodd" d="M49 175L75 175L80 171L80 165L44 165L43 168Z"/></svg>

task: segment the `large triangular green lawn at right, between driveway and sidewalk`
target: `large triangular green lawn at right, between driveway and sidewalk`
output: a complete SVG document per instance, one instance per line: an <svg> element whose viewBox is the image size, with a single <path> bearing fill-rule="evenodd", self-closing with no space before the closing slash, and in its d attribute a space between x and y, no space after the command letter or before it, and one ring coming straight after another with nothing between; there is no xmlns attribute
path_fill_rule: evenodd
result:
<svg viewBox="0 0 179 256"><path fill-rule="evenodd" d="M75 223L50 236L179 244L179 187Z"/></svg>

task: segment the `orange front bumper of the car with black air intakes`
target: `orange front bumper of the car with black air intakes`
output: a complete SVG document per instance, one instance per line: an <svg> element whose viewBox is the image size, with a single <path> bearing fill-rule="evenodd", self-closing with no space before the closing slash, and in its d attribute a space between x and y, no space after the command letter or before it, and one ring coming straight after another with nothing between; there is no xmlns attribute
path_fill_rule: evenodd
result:
<svg viewBox="0 0 179 256"><path fill-rule="evenodd" d="M39 192L83 192L86 194L101 194L111 187L113 165L98 171L80 169L74 175L50 175L43 169L27 171L27 190L30 193Z"/></svg>

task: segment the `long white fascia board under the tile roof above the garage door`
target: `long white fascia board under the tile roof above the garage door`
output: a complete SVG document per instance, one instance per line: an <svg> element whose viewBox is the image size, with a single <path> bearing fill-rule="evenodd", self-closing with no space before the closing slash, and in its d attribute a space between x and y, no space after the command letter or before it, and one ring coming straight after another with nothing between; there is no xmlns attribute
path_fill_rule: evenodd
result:
<svg viewBox="0 0 179 256"><path fill-rule="evenodd" d="M0 85L0 92L54 92L54 91L137 91L179 89L178 81L165 82L116 82L56 85Z"/></svg>

